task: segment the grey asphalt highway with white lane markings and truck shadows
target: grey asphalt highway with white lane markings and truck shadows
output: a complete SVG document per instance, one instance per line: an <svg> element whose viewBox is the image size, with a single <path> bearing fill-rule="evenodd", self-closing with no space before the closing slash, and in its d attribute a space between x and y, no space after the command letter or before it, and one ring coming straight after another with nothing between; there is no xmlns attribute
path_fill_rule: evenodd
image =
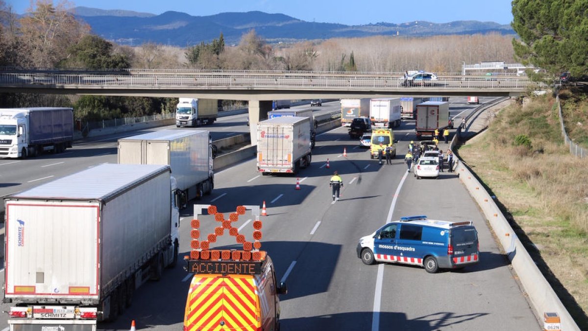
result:
<svg viewBox="0 0 588 331"><path fill-rule="evenodd" d="M490 98L480 98L480 102L486 100ZM465 98L450 102L452 117L475 107L467 105ZM319 109L328 112L337 107L338 102L332 102ZM213 131L213 139L228 134L229 129L222 130L225 127L246 132L245 117L219 118L217 124L205 128ZM539 330L508 260L500 254L485 219L459 179L443 173L438 180L417 181L403 163L407 144L415 140L414 121L403 121L395 134L400 142L392 166L370 160L367 150L350 140L347 129L338 127L317 136L312 166L300 173L301 190L295 190L294 177L260 176L251 159L216 173L212 195L195 203L214 204L228 215L238 205L260 206L266 201L262 249L272 257L277 279L288 285L288 294L280 297L282 330ZM96 164L114 163L116 138L76 144L68 151L71 154L0 160L4 183L0 195ZM440 143L442 150L444 147ZM342 155L343 148L347 157ZM327 158L330 168L325 167ZM12 163L15 161L18 163ZM335 203L328 185L333 170L339 171L345 185L341 200ZM48 176L53 177L43 178ZM360 237L387 221L417 214L472 220L479 231L480 263L429 274L420 267L366 266L358 259L355 249ZM184 255L189 252L192 208L182 210L181 216L180 251ZM249 240L251 219L245 214L235 224ZM201 223L203 234L212 233L217 226L209 216L201 217ZM218 245L229 244L234 242L219 238ZM128 330L131 320L136 320L137 329L180 330L189 280L179 263L166 270L159 282L148 282L135 292L132 306L116 322L99 323L98 329ZM2 304L2 310L8 307ZM4 326L6 315L0 318L0 328Z"/></svg>

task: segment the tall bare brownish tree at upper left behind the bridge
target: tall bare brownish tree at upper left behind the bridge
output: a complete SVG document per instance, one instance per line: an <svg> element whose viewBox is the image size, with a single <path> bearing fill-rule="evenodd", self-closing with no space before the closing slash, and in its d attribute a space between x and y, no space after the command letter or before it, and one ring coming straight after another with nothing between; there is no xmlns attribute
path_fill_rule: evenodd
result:
<svg viewBox="0 0 588 331"><path fill-rule="evenodd" d="M69 9L65 0L57 6L52 0L37 0L19 20L22 42L28 45L35 67L53 67L65 57L64 49L89 33L89 25L76 21Z"/></svg>

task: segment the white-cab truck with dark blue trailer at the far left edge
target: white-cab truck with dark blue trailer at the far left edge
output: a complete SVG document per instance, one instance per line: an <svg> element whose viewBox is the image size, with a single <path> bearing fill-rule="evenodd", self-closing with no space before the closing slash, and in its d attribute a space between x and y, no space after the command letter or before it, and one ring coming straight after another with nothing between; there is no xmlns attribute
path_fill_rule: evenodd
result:
<svg viewBox="0 0 588 331"><path fill-rule="evenodd" d="M46 150L62 153L73 140L72 108L0 109L0 157L35 157Z"/></svg>

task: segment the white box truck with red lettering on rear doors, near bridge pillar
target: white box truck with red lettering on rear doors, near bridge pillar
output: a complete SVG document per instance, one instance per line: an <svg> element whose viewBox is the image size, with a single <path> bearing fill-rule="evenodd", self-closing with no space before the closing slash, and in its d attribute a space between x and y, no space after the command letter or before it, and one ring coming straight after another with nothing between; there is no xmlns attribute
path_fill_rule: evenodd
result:
<svg viewBox="0 0 588 331"><path fill-rule="evenodd" d="M297 174L310 166L308 117L275 117L258 123L258 171Z"/></svg>

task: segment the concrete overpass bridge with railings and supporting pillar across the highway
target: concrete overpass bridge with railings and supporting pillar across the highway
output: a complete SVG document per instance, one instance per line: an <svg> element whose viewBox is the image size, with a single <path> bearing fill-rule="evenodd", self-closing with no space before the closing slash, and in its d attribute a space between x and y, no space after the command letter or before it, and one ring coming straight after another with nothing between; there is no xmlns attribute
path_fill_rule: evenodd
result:
<svg viewBox="0 0 588 331"><path fill-rule="evenodd" d="M492 77L446 73L437 77L435 81L406 86L402 73L390 72L4 69L0 72L0 92L248 100L252 143L256 144L256 124L271 110L272 100L465 95L517 97L546 88L527 77L508 73Z"/></svg>

